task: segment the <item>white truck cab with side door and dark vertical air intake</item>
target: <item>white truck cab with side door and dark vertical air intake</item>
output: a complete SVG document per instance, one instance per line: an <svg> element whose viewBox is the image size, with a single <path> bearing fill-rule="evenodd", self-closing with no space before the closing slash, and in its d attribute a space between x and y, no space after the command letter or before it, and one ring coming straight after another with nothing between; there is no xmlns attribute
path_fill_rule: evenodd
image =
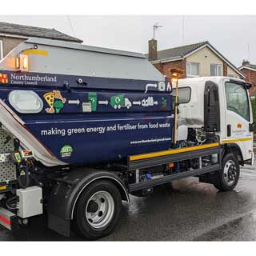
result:
<svg viewBox="0 0 256 256"><path fill-rule="evenodd" d="M178 83L179 116L189 129L197 136L202 130L214 132L221 145L237 151L242 164L254 162L249 88L243 80L228 77L185 78Z"/></svg>

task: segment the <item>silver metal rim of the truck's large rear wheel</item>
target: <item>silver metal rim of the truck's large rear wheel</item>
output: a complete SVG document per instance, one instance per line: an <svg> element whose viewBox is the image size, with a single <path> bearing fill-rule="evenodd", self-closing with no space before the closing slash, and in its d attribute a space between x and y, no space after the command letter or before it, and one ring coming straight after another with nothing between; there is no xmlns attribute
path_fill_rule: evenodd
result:
<svg viewBox="0 0 256 256"><path fill-rule="evenodd" d="M107 191L94 193L86 204L86 220L94 229L102 229L114 215L114 199Z"/></svg>

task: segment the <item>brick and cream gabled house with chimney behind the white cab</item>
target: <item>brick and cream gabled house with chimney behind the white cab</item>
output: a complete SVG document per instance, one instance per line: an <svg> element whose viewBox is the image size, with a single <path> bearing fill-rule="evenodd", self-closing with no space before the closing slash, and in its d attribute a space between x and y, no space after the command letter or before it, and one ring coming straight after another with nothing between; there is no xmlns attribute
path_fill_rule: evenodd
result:
<svg viewBox="0 0 256 256"><path fill-rule="evenodd" d="M151 39L149 54L146 54L146 57L166 77L170 77L170 70L178 69L183 71L182 78L199 76L245 78L242 71L207 41L158 50L157 40Z"/></svg>

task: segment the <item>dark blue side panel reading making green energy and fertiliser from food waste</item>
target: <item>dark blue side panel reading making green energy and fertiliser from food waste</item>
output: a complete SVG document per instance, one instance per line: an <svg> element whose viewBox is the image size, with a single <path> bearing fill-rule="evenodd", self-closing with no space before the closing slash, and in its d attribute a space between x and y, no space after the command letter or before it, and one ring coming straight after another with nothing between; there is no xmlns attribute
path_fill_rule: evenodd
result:
<svg viewBox="0 0 256 256"><path fill-rule="evenodd" d="M11 76L6 71L2 74ZM68 91L56 84L21 87L9 83L0 88L0 98L22 119L31 136L66 164L114 162L130 154L170 148L173 122L170 93L100 86L96 90L86 86ZM25 90L33 91L42 100L40 112L23 114L15 109L12 98L22 99ZM11 97L11 92L17 96Z"/></svg>

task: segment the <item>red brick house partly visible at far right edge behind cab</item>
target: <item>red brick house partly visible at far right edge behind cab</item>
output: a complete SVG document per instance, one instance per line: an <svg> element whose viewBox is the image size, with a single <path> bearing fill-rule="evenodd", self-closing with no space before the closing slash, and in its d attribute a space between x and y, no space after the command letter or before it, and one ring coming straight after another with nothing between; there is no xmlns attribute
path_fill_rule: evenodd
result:
<svg viewBox="0 0 256 256"><path fill-rule="evenodd" d="M243 61L239 70L246 75L246 82L250 82L252 87L250 88L250 96L256 97L256 65L250 64L248 61Z"/></svg>

